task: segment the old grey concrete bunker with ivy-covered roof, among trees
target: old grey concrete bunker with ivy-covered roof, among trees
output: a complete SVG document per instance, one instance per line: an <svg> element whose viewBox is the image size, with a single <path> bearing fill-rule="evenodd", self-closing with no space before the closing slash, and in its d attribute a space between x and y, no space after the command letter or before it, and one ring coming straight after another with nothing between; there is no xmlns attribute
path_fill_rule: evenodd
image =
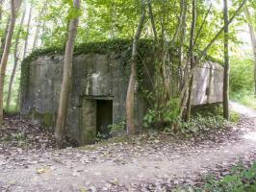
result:
<svg viewBox="0 0 256 192"><path fill-rule="evenodd" d="M150 90L151 80L154 81L150 60L153 49L148 41L140 44L141 83L135 95L135 123L139 128L149 107L140 87ZM109 137L109 126L125 121L131 45L130 40L115 40L87 43L75 49L66 134L80 145L93 143L99 133ZM32 53L21 65L21 113L51 128L58 111L63 62L63 49L48 49ZM194 74L192 105L222 102L222 82L220 64L212 60L200 62Z"/></svg>

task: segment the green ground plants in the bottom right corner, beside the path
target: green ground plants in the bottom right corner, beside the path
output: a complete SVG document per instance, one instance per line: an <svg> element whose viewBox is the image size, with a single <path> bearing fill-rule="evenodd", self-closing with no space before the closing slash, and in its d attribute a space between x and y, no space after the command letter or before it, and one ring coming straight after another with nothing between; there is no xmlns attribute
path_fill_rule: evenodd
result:
<svg viewBox="0 0 256 192"><path fill-rule="evenodd" d="M238 163L233 166L229 174L218 178L215 174L206 175L202 178L199 187L186 186L177 188L176 192L254 192L256 191L256 162L249 166ZM226 171L225 171L226 172Z"/></svg>

